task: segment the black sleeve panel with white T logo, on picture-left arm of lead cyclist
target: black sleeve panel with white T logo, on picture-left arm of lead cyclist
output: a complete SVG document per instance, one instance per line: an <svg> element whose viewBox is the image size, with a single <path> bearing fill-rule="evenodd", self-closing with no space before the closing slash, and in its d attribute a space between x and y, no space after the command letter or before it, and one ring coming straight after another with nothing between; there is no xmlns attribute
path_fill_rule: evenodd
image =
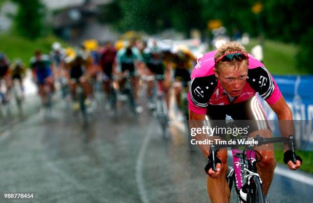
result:
<svg viewBox="0 0 313 203"><path fill-rule="evenodd" d="M190 99L197 107L206 108L217 85L215 75L194 78L190 84Z"/></svg>

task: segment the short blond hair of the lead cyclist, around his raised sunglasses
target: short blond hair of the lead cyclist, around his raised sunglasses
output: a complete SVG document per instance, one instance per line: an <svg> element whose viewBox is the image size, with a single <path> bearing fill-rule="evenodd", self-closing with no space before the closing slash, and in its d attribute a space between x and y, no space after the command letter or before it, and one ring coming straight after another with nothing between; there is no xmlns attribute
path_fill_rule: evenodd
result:
<svg viewBox="0 0 313 203"><path fill-rule="evenodd" d="M247 50L245 50L245 48L243 46L241 46L238 42L230 41L230 42L226 42L225 44L222 44L220 47L218 47L218 49L216 50L216 53L214 55L214 61L216 61L219 57L221 57L227 53L231 53L231 52L242 52L242 53L248 54ZM248 60L246 60L246 61L248 64ZM215 69L217 72L219 72L222 64L234 65L235 63L238 63L238 61L236 61L236 60L229 61L229 62L219 61L215 65ZM239 62L239 63L241 63L241 62Z"/></svg>

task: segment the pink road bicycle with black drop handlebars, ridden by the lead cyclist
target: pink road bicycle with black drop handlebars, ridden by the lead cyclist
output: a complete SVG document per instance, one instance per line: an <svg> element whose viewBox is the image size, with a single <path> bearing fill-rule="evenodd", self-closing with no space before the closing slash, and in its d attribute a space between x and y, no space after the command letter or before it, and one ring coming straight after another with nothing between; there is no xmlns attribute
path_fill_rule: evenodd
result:
<svg viewBox="0 0 313 203"><path fill-rule="evenodd" d="M262 191L262 180L257 172L256 167L256 163L261 161L262 157L258 151L254 150L255 146L277 142L287 143L289 149L292 151L292 161L296 164L294 136L290 135L289 138L262 138L261 136L257 135L254 137L254 140L258 141L258 144L221 144L210 146L210 156L212 154L213 163L211 163L211 165L207 164L205 168L206 171L208 171L211 166L212 169L216 171L216 153L219 149L230 147L232 150L233 167L228 168L228 173L226 176L231 194L229 202L265 202ZM238 147L243 147L244 149L240 150ZM259 159L257 157L259 157ZM246 193L246 196L243 197L242 193L240 194L240 189L245 183L248 183L248 193Z"/></svg>

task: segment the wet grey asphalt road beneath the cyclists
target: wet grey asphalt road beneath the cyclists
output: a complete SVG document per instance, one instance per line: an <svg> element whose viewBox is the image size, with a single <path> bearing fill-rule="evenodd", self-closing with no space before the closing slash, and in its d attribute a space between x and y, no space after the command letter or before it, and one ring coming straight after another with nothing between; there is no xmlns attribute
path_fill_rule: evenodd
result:
<svg viewBox="0 0 313 203"><path fill-rule="evenodd" d="M165 140L146 109L134 119L120 108L114 119L103 106L99 99L87 128L59 102L49 118L34 113L3 130L0 192L34 193L30 202L209 202L205 158L175 126ZM270 199L310 202L312 191L275 175Z"/></svg>

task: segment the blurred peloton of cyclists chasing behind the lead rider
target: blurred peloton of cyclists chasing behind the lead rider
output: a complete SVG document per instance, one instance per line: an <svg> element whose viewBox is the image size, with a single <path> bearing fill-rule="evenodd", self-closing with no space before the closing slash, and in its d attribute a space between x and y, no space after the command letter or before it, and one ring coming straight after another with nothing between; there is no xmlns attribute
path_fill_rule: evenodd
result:
<svg viewBox="0 0 313 203"><path fill-rule="evenodd" d="M135 108L140 112L142 109L138 97L140 84L147 86L148 108L155 108L154 80L158 80L164 90L167 108L170 108L171 87L176 103L180 107L182 87L189 87L190 71L195 63L195 57L186 46L176 46L172 41L151 38L147 41L135 39L108 41L103 46L99 46L96 41L92 43L85 41L76 48L64 48L59 42L55 42L49 54L36 50L30 59L29 67L42 104L48 102L48 95L52 95L56 88L60 87L61 90L68 88L74 110L79 108L77 86L83 89L86 106L96 105L94 88L98 81L101 81L106 98L109 99L111 96L110 91L115 83L118 98L123 99L122 90L127 73L132 85ZM1 54L0 79L5 81L8 90L6 93L1 91L4 102L12 86L10 81L13 79L17 79L21 89L24 89L25 72L26 68L21 60L15 60L10 64L5 54ZM65 94L62 93L63 96Z"/></svg>

